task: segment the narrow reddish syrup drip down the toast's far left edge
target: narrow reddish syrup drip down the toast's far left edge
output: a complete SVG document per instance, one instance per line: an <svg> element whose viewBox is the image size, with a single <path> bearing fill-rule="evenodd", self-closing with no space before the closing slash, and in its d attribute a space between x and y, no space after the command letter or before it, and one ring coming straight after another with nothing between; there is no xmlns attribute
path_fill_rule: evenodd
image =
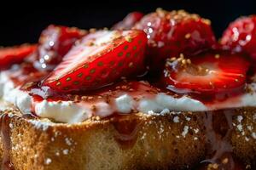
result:
<svg viewBox="0 0 256 170"><path fill-rule="evenodd" d="M10 139L10 118L8 114L2 114L0 116L1 122L1 139L3 141L3 161L1 165L2 170L15 170L13 163L11 162L11 139Z"/></svg>

